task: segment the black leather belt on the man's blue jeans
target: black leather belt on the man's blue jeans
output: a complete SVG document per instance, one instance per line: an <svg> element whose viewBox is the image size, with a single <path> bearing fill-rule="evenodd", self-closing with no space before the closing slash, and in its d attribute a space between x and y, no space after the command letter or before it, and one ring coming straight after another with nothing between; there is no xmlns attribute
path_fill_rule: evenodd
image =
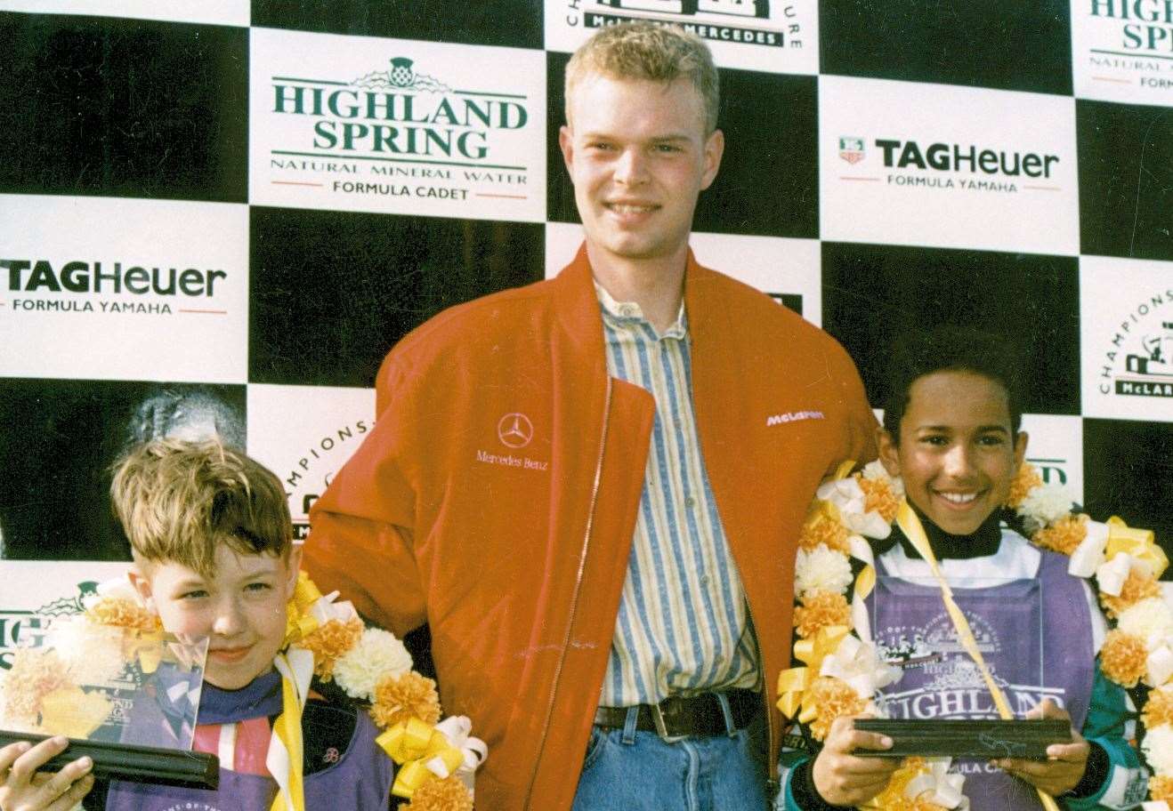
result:
<svg viewBox="0 0 1173 811"><path fill-rule="evenodd" d="M724 690L730 702L733 727L741 729L761 711L761 694L754 690ZM595 725L623 729L628 722L629 707L599 707L595 711ZM703 735L726 735L725 714L716 693L701 693L687 698L669 696L658 704L639 704L636 729L659 734L665 741Z"/></svg>

